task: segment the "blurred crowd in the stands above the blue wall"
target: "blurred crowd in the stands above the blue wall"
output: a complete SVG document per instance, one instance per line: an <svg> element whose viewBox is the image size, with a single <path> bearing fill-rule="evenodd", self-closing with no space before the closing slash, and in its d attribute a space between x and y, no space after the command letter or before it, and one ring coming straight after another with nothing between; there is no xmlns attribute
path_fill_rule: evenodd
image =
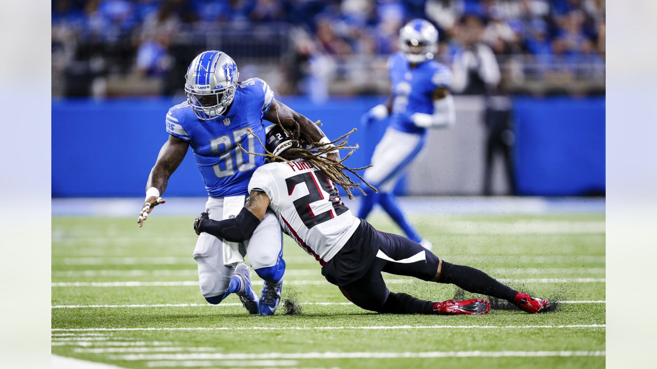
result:
<svg viewBox="0 0 657 369"><path fill-rule="evenodd" d="M604 0L53 0L53 97L175 95L205 49L282 94L387 93L386 58L413 18L436 25L449 66L485 45L512 92L604 93L604 12Z"/></svg>

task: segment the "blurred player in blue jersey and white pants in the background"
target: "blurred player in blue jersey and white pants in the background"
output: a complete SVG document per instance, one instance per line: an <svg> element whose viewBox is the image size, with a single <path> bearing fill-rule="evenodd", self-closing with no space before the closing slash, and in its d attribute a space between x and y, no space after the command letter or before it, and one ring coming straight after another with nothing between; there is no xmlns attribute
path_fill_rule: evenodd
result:
<svg viewBox="0 0 657 369"><path fill-rule="evenodd" d="M454 100L449 94L451 72L433 60L438 50L438 30L426 20L411 20L401 28L399 49L401 52L388 60L392 96L363 116L367 125L390 116L390 126L376 145L373 167L364 175L378 193L368 190L358 217L367 218L378 203L408 238L430 250L431 243L405 219L392 190L424 147L427 129L455 123Z"/></svg>

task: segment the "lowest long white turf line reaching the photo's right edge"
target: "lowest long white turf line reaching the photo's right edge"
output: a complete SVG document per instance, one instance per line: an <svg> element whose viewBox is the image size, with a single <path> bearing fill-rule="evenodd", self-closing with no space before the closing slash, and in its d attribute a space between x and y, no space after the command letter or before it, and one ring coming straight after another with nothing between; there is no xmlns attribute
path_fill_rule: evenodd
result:
<svg viewBox="0 0 657 369"><path fill-rule="evenodd" d="M117 355L115 360L258 360L258 359L334 359L334 358L439 358L439 357L602 357L605 351L428 351L420 353L192 353Z"/></svg>

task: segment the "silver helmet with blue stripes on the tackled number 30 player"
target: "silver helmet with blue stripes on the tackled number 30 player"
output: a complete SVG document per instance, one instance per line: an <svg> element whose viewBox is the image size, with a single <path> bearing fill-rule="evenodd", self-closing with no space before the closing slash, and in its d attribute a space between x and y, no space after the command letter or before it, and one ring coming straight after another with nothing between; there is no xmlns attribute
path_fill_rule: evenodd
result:
<svg viewBox="0 0 657 369"><path fill-rule="evenodd" d="M212 120L225 113L237 88L237 64L221 51L204 51L185 74L185 95L196 118Z"/></svg>

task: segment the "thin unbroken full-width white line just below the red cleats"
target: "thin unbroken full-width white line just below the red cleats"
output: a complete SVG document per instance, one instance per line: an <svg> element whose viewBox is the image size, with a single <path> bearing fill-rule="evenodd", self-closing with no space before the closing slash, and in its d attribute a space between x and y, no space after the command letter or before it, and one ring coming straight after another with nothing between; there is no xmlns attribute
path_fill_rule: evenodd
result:
<svg viewBox="0 0 657 369"><path fill-rule="evenodd" d="M397 329L562 329L606 328L606 324L558 326L326 326L326 327L141 327L141 328L52 328L53 332L135 332L135 331L214 331L214 330L397 330Z"/></svg>

